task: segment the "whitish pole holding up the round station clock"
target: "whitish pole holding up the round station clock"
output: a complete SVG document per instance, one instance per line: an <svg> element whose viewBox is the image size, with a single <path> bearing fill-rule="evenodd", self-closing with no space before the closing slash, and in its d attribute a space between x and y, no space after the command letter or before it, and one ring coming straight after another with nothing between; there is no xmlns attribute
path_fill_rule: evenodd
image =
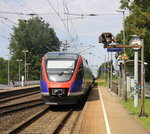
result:
<svg viewBox="0 0 150 134"><path fill-rule="evenodd" d="M138 50L134 50L134 107L138 107Z"/></svg>

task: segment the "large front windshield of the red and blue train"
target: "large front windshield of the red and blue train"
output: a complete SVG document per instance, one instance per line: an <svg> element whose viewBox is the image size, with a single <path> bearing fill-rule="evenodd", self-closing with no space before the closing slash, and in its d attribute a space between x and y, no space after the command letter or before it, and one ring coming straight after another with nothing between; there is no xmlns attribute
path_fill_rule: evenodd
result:
<svg viewBox="0 0 150 134"><path fill-rule="evenodd" d="M72 77L75 60L47 60L47 76L53 82L66 82Z"/></svg>

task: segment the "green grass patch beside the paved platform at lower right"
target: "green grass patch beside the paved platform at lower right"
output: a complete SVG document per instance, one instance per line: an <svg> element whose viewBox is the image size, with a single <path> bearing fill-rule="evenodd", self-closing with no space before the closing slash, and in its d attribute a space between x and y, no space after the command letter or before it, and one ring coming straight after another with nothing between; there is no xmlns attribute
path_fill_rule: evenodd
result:
<svg viewBox="0 0 150 134"><path fill-rule="evenodd" d="M150 99L145 99L145 113L148 114L148 117L139 117L141 111L141 100L139 100L139 105L137 108L134 108L133 99L130 99L127 102L121 101L121 103L129 112L131 112L131 114L136 119L138 119L150 131Z"/></svg>

